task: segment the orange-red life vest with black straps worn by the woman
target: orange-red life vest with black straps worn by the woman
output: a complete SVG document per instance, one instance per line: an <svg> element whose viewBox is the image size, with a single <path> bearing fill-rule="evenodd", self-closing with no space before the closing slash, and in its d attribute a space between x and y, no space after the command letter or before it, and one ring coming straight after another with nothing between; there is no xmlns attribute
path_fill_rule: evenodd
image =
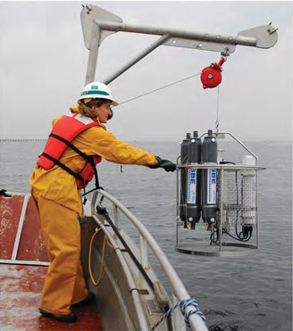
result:
<svg viewBox="0 0 293 331"><path fill-rule="evenodd" d="M75 113L73 116L63 116L54 125L46 142L44 152L41 153L37 164L45 170L50 170L54 167L54 165L58 165L76 178L77 186L79 188L85 188L95 175L96 186L98 186L96 164L102 161L102 157L99 155L86 155L71 144L72 140L80 135L81 132L95 126L104 128L96 120L92 120L87 116L81 115L80 113ZM85 167L80 171L80 173L74 172L59 161L67 147L70 147L73 151L79 153L80 156L87 160Z"/></svg>

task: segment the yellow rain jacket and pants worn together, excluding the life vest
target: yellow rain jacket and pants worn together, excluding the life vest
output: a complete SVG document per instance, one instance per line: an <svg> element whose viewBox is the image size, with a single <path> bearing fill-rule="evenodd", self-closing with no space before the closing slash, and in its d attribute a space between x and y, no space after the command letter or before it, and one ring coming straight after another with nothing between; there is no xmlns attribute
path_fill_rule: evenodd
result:
<svg viewBox="0 0 293 331"><path fill-rule="evenodd" d="M53 125L60 118L56 118ZM100 155L115 163L147 165L157 162L155 154L123 143L99 127L83 131L72 144L87 155ZM75 172L80 172L86 163L71 148L64 151L60 161ZM51 262L40 309L67 315L71 304L80 302L88 294L80 267L80 190L76 179L58 166L44 170L37 165L30 184Z"/></svg>

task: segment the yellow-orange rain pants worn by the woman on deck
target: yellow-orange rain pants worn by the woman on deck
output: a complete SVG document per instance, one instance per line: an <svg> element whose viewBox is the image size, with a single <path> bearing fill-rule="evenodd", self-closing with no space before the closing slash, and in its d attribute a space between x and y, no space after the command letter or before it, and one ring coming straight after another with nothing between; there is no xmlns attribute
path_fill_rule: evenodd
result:
<svg viewBox="0 0 293 331"><path fill-rule="evenodd" d="M88 296L80 265L79 215L42 197L35 203L50 261L39 308L67 315L71 304Z"/></svg>

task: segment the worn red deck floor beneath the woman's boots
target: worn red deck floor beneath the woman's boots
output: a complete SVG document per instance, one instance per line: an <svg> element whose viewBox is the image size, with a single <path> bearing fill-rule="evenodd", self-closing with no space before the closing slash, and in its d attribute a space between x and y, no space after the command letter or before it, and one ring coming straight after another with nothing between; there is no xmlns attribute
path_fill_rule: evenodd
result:
<svg viewBox="0 0 293 331"><path fill-rule="evenodd" d="M46 267L0 264L1 330L102 330L94 305L72 309L79 319L71 324L40 315L38 304L45 277Z"/></svg>

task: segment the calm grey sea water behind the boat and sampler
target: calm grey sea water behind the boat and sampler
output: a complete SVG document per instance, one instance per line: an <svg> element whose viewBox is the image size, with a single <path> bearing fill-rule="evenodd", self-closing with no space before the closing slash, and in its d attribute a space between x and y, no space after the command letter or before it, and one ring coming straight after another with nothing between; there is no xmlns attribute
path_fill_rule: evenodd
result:
<svg viewBox="0 0 293 331"><path fill-rule="evenodd" d="M0 189L29 193L29 177L44 145L44 141L1 142ZM179 143L132 145L172 161L180 153ZM292 146L289 142L247 146L266 168L259 176L261 251L248 257L198 257L174 251L174 173L129 165L121 172L120 165L103 161L98 166L100 185L155 237L190 296L197 299L210 330L292 330ZM226 160L241 160L238 147L223 147ZM155 270L162 275L156 263Z"/></svg>

